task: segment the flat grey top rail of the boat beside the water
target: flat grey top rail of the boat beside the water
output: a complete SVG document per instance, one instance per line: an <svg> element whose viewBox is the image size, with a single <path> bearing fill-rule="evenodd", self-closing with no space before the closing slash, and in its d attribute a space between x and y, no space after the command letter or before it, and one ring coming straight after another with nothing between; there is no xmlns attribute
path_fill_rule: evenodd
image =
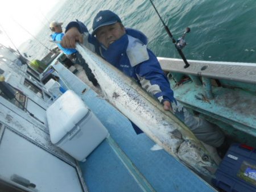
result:
<svg viewBox="0 0 256 192"><path fill-rule="evenodd" d="M158 60L162 69L167 72L186 73L197 78L220 78L250 84L256 83L255 63L188 60L190 66L184 68L184 62L181 59L158 57Z"/></svg>

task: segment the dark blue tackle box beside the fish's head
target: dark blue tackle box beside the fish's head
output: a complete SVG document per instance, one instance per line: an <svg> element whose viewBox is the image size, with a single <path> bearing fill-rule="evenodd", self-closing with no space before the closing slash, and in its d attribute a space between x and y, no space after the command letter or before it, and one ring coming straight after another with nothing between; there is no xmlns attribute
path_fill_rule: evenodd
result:
<svg viewBox="0 0 256 192"><path fill-rule="evenodd" d="M212 180L218 189L228 192L256 191L256 150L234 143L221 161Z"/></svg>

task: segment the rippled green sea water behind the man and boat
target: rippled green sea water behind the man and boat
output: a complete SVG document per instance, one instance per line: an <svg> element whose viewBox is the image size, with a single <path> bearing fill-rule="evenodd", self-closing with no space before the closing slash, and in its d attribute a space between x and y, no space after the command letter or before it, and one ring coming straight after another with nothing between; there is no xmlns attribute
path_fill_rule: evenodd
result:
<svg viewBox="0 0 256 192"><path fill-rule="evenodd" d="M208 61L256 62L255 0L154 0L156 9L178 39L186 27L191 28L183 53L187 59ZM125 27L142 31L148 37L148 48L156 56L179 58L174 44L149 0L67 1L56 7L48 20L84 22L92 32L94 16L100 10L112 10ZM26 51L30 59L42 59L56 45L49 42L51 31L44 26ZM39 43L40 41L40 43ZM41 44L42 43L42 44Z"/></svg>

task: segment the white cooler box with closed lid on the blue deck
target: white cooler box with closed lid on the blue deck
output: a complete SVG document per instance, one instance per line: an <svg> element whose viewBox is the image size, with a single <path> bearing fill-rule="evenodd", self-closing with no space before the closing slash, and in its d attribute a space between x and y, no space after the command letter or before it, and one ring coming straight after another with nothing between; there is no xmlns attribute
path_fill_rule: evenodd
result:
<svg viewBox="0 0 256 192"><path fill-rule="evenodd" d="M100 120L73 91L67 90L46 110L49 133L57 145L79 161L109 135Z"/></svg>

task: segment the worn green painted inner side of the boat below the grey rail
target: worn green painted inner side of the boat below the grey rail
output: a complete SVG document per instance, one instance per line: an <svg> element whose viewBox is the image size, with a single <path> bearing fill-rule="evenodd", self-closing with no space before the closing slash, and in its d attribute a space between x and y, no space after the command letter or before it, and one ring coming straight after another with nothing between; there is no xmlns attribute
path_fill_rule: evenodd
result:
<svg viewBox="0 0 256 192"><path fill-rule="evenodd" d="M206 89L186 81L177 85L170 77L175 98L195 114L221 127L240 143L256 147L256 93L254 84L219 81L212 84L213 99L204 99ZM213 81L212 81L213 82Z"/></svg>

